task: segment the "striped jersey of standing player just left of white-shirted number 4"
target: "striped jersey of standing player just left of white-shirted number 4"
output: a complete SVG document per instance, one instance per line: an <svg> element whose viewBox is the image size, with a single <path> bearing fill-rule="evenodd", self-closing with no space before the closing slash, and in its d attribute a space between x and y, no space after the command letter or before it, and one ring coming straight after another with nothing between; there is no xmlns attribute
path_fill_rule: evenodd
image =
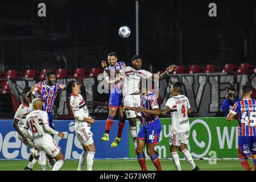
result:
<svg viewBox="0 0 256 182"><path fill-rule="evenodd" d="M146 94L141 96L141 107L149 110L153 110L159 108L158 100L155 97L155 94L152 92L147 92ZM142 112L142 121L143 125L147 125L148 123L152 123L158 119L158 115L152 115L145 112Z"/></svg>

